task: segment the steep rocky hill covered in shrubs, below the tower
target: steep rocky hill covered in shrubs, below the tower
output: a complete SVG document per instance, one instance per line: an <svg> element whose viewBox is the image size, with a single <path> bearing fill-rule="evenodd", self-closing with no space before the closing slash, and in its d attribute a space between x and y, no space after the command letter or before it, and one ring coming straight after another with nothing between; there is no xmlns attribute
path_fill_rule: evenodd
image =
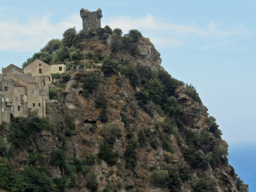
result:
<svg viewBox="0 0 256 192"><path fill-rule="evenodd" d="M52 76L47 119L1 125L2 191L248 191L195 87L140 32L113 32L68 29L58 51L33 55L70 71Z"/></svg>

